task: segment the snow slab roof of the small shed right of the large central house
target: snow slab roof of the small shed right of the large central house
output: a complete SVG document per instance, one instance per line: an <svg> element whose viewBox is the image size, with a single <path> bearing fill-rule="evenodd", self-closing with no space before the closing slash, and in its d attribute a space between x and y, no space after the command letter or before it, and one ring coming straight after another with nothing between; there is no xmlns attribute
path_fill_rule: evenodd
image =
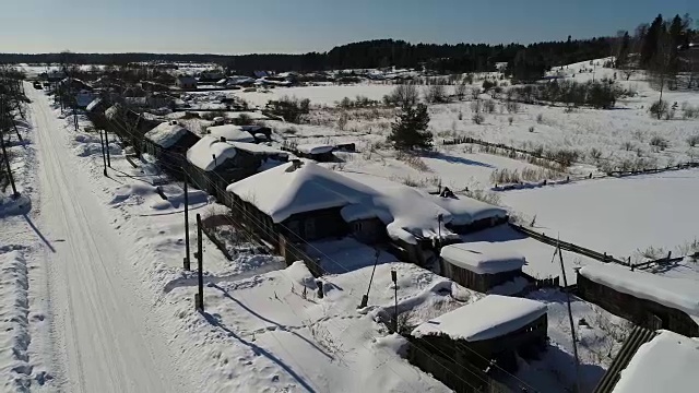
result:
<svg viewBox="0 0 699 393"><path fill-rule="evenodd" d="M524 257L486 241L445 246L440 255L452 265L478 274L516 271L526 263Z"/></svg>

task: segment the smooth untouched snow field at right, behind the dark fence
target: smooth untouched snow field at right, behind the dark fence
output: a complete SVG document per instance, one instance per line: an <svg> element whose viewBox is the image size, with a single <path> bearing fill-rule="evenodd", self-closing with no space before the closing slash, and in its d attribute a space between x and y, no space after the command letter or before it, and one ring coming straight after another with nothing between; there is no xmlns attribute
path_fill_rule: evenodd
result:
<svg viewBox="0 0 699 393"><path fill-rule="evenodd" d="M649 247L659 257L699 237L699 169L627 178L607 178L501 193L505 204L529 217L534 229L566 241L607 252L617 259Z"/></svg>

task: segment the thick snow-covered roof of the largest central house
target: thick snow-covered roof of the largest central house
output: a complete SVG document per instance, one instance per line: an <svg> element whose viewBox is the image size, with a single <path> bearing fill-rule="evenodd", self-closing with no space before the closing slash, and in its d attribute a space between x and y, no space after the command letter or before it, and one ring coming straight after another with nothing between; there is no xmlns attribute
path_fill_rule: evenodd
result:
<svg viewBox="0 0 699 393"><path fill-rule="evenodd" d="M379 218L392 239L408 243L418 238L457 237L445 227L452 213L434 203L434 195L387 179L340 175L310 160L299 163L296 169L293 163L280 166L235 182L227 190L275 223L296 213L342 207L345 222Z"/></svg>

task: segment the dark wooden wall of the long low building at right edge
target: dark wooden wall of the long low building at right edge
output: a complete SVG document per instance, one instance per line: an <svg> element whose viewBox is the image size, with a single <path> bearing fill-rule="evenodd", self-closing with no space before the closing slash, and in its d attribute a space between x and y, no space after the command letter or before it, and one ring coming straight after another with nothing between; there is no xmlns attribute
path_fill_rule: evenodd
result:
<svg viewBox="0 0 699 393"><path fill-rule="evenodd" d="M578 274L578 296L637 325L699 336L699 325L684 311L620 293Z"/></svg>

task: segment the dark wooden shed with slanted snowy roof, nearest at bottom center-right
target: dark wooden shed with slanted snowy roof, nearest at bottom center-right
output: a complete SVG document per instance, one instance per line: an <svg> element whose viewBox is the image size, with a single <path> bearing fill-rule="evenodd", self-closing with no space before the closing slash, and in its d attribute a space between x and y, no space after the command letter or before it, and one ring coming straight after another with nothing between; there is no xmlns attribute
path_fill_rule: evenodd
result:
<svg viewBox="0 0 699 393"><path fill-rule="evenodd" d="M488 295L415 327L408 360L454 392L486 392L491 362L517 371L546 345L546 305Z"/></svg>

